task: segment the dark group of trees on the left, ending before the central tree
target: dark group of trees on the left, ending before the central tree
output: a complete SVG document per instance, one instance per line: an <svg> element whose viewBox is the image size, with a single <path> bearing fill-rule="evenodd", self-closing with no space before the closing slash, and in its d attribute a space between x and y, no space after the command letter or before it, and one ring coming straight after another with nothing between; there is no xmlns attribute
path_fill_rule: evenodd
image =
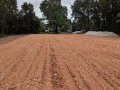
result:
<svg viewBox="0 0 120 90"><path fill-rule="evenodd" d="M44 29L45 24L35 15L32 4L25 2L21 10L18 10L16 0L0 0L0 34L2 36L39 33Z"/></svg>

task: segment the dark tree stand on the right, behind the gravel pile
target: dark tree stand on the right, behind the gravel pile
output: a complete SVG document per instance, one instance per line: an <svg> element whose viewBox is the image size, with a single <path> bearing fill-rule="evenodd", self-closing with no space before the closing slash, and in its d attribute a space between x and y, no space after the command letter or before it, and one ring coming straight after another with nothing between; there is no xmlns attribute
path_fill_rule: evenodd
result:
<svg viewBox="0 0 120 90"><path fill-rule="evenodd" d="M120 0L76 0L71 6L73 31L112 31L120 34Z"/></svg>

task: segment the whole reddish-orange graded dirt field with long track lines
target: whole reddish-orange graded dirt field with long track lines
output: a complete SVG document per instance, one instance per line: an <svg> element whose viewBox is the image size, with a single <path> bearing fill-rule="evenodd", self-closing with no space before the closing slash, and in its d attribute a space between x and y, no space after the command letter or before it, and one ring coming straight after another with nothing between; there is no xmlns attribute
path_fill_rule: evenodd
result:
<svg viewBox="0 0 120 90"><path fill-rule="evenodd" d="M28 35L0 45L0 90L120 90L120 37Z"/></svg>

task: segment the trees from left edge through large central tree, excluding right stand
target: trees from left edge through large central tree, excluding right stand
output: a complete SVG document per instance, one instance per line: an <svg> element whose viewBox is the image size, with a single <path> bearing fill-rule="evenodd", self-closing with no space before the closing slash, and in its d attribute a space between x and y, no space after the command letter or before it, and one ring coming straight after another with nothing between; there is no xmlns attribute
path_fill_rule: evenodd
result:
<svg viewBox="0 0 120 90"><path fill-rule="evenodd" d="M61 0L44 0L40 4L47 24L38 18L31 3L24 2L18 10L17 0L0 0L0 34L31 34L50 29L52 32L66 31L71 20L67 19L67 7Z"/></svg>

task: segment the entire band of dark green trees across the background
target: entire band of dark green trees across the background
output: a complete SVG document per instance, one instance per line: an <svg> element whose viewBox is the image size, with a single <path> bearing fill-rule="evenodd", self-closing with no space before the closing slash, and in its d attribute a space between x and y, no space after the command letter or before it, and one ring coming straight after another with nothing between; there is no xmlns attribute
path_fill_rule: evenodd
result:
<svg viewBox="0 0 120 90"><path fill-rule="evenodd" d="M68 19L68 9L61 0L44 0L40 10L43 18L38 18L34 6L23 3L18 10L16 0L0 0L0 34L30 34L49 29L59 31L112 31L120 34L120 0L76 0L71 6L72 17Z"/></svg>

